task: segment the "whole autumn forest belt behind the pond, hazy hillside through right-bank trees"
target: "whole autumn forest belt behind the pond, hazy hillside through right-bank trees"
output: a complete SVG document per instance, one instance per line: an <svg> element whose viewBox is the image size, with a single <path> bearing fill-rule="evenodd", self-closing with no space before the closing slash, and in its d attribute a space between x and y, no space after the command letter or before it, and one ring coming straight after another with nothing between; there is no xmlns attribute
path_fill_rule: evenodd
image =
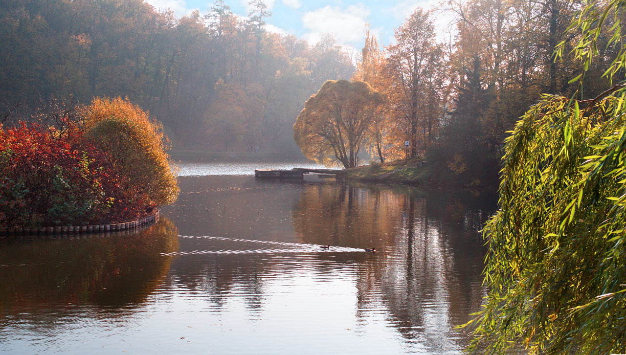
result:
<svg viewBox="0 0 626 355"><path fill-rule="evenodd" d="M367 31L360 61L331 37L309 44L267 32L265 4L250 4L248 18L222 0L206 15L177 18L141 0L3 1L0 46L11 50L0 52L0 99L33 108L123 96L162 121L174 147L298 153L295 138L305 155L344 166L404 158L408 140L409 156L425 157L439 182L484 185L497 180L506 132L541 93L593 97L608 88L602 73L615 57L610 36L600 34L585 80L570 82L582 69L570 54L577 38L567 33L578 0L418 8L389 46ZM448 41L437 35L441 11L454 15ZM336 152L314 135L344 144L337 132L294 123L327 80L345 79L380 95L362 110L366 122L333 123L351 137Z"/></svg>

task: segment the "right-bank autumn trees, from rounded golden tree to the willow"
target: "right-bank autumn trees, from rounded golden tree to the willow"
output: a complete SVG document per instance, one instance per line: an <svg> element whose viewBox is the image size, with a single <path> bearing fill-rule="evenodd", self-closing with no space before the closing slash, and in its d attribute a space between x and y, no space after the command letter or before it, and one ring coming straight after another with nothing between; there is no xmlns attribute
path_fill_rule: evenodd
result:
<svg viewBox="0 0 626 355"><path fill-rule="evenodd" d="M369 111L356 117L349 108L357 101L363 107L364 96L331 98L322 87L298 117L294 138L307 157L344 167L355 166L349 157L364 151L380 162L408 155L426 158L439 183L495 184L505 136L541 94L593 97L609 86L602 74L617 52L607 48L611 36L604 32L585 80L572 81L583 64L574 60L577 36L567 28L582 6L452 0L439 11L408 14L389 46L381 48L367 31L352 80L369 83L382 105L372 99ZM449 41L437 33L441 11L453 14L456 34ZM616 21L608 19L605 29ZM559 43L563 55L557 58Z"/></svg>

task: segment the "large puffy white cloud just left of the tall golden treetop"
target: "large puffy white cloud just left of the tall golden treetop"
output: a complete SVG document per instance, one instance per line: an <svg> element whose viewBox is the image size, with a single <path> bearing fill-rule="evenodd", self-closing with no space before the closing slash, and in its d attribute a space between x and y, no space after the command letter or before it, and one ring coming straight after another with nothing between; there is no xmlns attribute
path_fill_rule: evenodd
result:
<svg viewBox="0 0 626 355"><path fill-rule="evenodd" d="M309 11L302 16L302 26L307 31L302 38L313 44L322 39L324 34L330 33L338 44L361 46L369 13L369 9L362 4L351 5L346 9L329 5Z"/></svg>

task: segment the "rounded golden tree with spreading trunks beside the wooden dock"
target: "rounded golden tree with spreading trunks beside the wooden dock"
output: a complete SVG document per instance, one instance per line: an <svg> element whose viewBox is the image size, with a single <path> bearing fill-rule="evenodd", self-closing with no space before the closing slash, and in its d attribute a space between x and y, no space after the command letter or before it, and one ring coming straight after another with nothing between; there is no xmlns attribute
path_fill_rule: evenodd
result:
<svg viewBox="0 0 626 355"><path fill-rule="evenodd" d="M364 81L326 81L298 115L294 140L309 159L356 167L381 104L382 96Z"/></svg>

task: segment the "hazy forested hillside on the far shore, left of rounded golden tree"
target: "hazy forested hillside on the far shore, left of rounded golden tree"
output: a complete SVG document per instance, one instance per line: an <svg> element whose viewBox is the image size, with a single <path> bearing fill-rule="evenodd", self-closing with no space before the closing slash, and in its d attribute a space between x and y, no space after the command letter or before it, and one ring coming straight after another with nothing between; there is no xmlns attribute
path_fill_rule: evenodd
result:
<svg viewBox="0 0 626 355"><path fill-rule="evenodd" d="M354 65L330 37L265 31L270 15L259 0L247 19L221 0L182 18L141 0L3 0L0 100L23 117L49 100L122 96L175 147L298 153L304 101Z"/></svg>

